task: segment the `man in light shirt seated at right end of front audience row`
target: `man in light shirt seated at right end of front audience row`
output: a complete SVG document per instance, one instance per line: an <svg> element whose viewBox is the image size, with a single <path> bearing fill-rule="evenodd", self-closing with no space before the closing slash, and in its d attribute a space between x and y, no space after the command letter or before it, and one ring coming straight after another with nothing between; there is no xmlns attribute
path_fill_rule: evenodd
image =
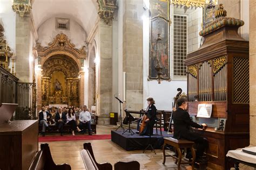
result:
<svg viewBox="0 0 256 170"><path fill-rule="evenodd" d="M90 122L91 121L91 114L86 109L87 109L87 106L84 105L83 111L81 111L80 114L79 114L79 121L80 121L79 126L84 130L84 132L85 132L85 129L86 129L86 126L87 126L88 131L89 131L89 135L92 135L91 122Z"/></svg>

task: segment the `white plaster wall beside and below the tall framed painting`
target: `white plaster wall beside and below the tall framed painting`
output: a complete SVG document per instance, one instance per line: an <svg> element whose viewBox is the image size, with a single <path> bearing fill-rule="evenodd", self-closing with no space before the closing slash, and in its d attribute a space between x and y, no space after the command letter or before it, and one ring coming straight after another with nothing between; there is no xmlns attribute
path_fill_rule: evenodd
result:
<svg viewBox="0 0 256 170"><path fill-rule="evenodd" d="M149 15L144 12L143 17L143 100L144 108L147 107L146 98L153 97L158 110L171 110L174 97L178 93L177 88L183 89L186 93L186 81L147 81L149 75ZM172 68L171 68L172 69Z"/></svg>

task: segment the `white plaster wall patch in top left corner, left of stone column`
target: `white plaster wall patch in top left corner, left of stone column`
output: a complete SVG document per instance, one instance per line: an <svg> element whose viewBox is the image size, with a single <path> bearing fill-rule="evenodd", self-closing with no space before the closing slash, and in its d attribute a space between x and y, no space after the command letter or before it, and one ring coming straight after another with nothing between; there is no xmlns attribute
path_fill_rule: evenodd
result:
<svg viewBox="0 0 256 170"><path fill-rule="evenodd" d="M4 38L8 41L11 51L15 50L16 37L16 13L12 10L11 0L0 1L0 23L4 27Z"/></svg>

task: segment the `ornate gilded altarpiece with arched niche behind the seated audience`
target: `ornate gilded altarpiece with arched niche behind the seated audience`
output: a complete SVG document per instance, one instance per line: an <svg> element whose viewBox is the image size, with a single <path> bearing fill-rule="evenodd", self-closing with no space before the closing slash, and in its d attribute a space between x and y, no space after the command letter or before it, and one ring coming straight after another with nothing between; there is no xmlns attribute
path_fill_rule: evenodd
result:
<svg viewBox="0 0 256 170"><path fill-rule="evenodd" d="M79 74L86 58L84 47L75 48L65 34L58 34L49 44L37 44L39 64L42 64L42 105L67 104L79 106Z"/></svg>

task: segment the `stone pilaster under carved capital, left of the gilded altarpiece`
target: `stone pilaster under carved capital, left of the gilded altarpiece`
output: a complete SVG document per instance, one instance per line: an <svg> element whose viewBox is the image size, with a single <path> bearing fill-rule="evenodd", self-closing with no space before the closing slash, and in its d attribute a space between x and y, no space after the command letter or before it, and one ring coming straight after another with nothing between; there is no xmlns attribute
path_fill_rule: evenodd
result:
<svg viewBox="0 0 256 170"><path fill-rule="evenodd" d="M16 15L16 76L29 82L30 17Z"/></svg>

